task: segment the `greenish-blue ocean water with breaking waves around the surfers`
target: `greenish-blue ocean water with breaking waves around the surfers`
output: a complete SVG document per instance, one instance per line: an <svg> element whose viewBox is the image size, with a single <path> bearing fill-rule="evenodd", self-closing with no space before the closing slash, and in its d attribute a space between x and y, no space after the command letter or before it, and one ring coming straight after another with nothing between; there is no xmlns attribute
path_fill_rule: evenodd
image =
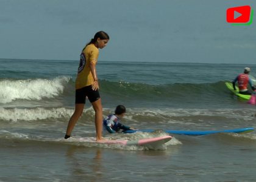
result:
<svg viewBox="0 0 256 182"><path fill-rule="evenodd" d="M80 140L95 136L87 101L73 137L64 140L78 64L0 59L0 181L255 181L255 132L172 135L159 149L90 144ZM244 67L256 75L256 65L246 64L99 61L104 116L123 104L123 124L157 130L104 136L255 127L255 106L224 84Z"/></svg>

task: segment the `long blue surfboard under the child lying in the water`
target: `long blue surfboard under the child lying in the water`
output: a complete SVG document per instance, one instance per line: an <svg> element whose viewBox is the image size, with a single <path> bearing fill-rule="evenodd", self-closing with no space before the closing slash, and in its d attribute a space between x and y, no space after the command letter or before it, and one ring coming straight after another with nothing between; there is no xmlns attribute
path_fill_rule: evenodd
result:
<svg viewBox="0 0 256 182"><path fill-rule="evenodd" d="M249 133L254 130L253 127L240 128L240 129L232 129L232 130L205 130L205 131L197 131L197 130L164 130L166 133L177 134L177 135L191 135L191 136L199 136L199 135L209 135L215 133ZM124 133L134 133L134 132L154 132L153 129L144 129L144 130L127 130Z"/></svg>

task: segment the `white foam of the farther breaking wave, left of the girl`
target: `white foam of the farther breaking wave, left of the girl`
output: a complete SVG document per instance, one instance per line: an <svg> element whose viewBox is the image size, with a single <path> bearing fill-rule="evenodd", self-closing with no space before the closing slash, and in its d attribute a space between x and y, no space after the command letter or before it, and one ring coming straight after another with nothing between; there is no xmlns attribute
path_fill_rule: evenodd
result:
<svg viewBox="0 0 256 182"><path fill-rule="evenodd" d="M0 103L10 103L15 99L53 98L63 93L64 84L69 79L71 78L66 76L54 79L4 79L0 81Z"/></svg>

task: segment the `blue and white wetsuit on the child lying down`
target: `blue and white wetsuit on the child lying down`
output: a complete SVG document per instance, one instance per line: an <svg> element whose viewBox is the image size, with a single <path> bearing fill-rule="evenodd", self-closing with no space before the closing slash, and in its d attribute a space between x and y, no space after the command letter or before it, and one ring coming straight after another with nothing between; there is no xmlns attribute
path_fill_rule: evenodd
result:
<svg viewBox="0 0 256 182"><path fill-rule="evenodd" d="M116 115L109 115L103 120L103 126L109 133L116 133L119 130L129 130L129 126L124 126L119 122L119 118Z"/></svg>

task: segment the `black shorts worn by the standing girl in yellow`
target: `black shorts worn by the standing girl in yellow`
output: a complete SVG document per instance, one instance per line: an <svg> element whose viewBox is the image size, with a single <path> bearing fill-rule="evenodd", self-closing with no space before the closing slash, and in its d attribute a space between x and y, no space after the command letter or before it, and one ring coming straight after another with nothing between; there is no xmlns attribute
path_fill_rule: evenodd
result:
<svg viewBox="0 0 256 182"><path fill-rule="evenodd" d="M86 97L89 99L90 103L97 101L99 98L101 98L99 95L99 89L93 90L92 86L76 89L76 104L85 104Z"/></svg>

